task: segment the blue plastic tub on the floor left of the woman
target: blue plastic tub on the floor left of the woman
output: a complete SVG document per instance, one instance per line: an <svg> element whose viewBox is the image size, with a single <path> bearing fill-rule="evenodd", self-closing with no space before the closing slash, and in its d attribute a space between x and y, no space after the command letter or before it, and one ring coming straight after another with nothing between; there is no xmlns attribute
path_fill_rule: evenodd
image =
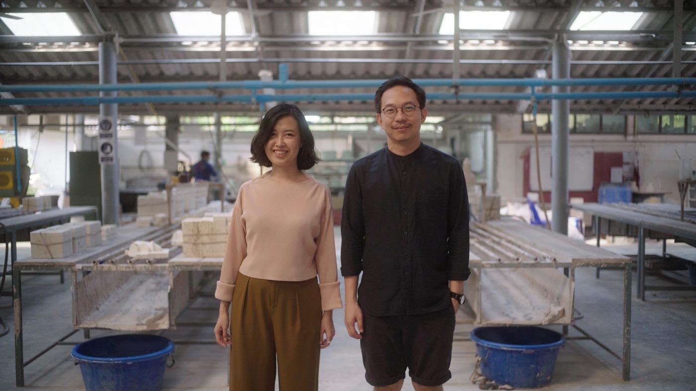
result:
<svg viewBox="0 0 696 391"><path fill-rule="evenodd" d="M79 362L87 391L156 391L173 352L168 338L126 334L82 342L71 356Z"/></svg>

